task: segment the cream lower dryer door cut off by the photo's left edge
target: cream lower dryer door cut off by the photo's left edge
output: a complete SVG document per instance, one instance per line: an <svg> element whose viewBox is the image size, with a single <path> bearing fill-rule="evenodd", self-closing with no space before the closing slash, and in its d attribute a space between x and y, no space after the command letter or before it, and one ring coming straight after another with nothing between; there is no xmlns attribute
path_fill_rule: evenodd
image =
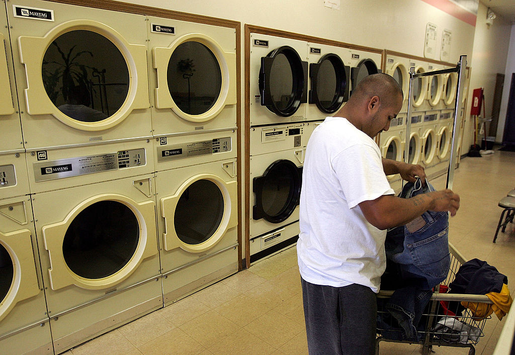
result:
<svg viewBox="0 0 515 355"><path fill-rule="evenodd" d="M28 229L0 232L0 321L16 303L41 292L30 235Z"/></svg>

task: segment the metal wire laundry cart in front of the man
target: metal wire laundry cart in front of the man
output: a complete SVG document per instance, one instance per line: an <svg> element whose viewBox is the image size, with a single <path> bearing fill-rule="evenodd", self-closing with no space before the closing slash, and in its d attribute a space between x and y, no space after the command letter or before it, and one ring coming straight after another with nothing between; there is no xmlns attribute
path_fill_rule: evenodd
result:
<svg viewBox="0 0 515 355"><path fill-rule="evenodd" d="M391 320L391 317L385 307L386 302L378 302L377 319L380 319L381 322L378 322L377 325L376 354L379 354L381 342L421 344L422 354L431 353L432 346L468 347L469 355L475 353L474 345L485 336L483 328L486 319L490 319L491 316L477 317L473 315L472 310L475 311L475 308L472 304L492 304L492 301L486 295L445 293L449 283L454 280L459 267L467 261L451 243L449 243L449 253L451 256L449 274L436 287L438 290L435 288L435 292L422 313L417 329L417 341L398 340L402 337L401 330L394 329L393 321L388 321ZM387 300L392 294L393 291L380 291L377 298ZM470 308L466 308L461 315L457 315L456 311L462 302L469 302Z"/></svg>

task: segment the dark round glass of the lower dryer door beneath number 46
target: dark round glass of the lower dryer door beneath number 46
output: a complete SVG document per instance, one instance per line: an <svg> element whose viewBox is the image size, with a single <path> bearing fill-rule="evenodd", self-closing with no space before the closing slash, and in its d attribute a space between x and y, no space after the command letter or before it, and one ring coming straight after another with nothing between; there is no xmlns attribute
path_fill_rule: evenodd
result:
<svg viewBox="0 0 515 355"><path fill-rule="evenodd" d="M67 267L85 279L102 279L124 268L140 241L134 212L118 201L84 208L68 226L62 251Z"/></svg>

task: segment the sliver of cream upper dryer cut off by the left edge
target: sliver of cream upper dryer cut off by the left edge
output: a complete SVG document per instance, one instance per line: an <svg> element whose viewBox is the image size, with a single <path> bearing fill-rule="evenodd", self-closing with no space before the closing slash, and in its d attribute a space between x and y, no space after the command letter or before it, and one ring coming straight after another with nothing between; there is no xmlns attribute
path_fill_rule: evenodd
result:
<svg viewBox="0 0 515 355"><path fill-rule="evenodd" d="M0 151L23 150L22 127L18 112L18 99L14 72L12 70L11 41L7 13L4 6L0 7Z"/></svg>

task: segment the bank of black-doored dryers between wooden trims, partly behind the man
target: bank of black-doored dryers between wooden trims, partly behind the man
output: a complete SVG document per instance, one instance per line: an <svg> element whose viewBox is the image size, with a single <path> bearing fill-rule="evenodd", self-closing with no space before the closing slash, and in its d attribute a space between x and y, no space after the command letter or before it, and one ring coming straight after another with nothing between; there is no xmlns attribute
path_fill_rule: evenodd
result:
<svg viewBox="0 0 515 355"><path fill-rule="evenodd" d="M364 77L381 72L382 50L249 31L247 63L250 263L294 244L308 139Z"/></svg>

